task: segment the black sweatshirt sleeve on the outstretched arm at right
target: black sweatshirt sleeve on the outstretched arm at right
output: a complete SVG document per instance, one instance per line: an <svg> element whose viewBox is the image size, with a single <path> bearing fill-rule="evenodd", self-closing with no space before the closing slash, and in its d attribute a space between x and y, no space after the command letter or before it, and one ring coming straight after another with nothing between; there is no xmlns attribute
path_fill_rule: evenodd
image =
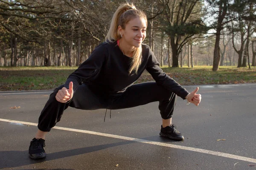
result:
<svg viewBox="0 0 256 170"><path fill-rule="evenodd" d="M163 70L160 68L159 62L157 62L157 59L150 48L148 52L148 65L146 70L157 82L157 85L161 85L169 89L173 93L177 94L177 96L180 96L182 99L185 99L185 97L189 94L185 88L183 88L179 83L177 83L174 79L163 72Z"/></svg>

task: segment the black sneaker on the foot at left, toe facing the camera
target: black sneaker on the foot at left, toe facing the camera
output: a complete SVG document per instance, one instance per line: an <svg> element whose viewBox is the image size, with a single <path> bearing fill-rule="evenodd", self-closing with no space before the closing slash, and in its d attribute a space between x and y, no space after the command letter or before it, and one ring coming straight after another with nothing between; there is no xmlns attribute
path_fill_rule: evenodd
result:
<svg viewBox="0 0 256 170"><path fill-rule="evenodd" d="M40 159L46 156L44 151L44 139L32 139L29 146L29 157L32 159Z"/></svg>

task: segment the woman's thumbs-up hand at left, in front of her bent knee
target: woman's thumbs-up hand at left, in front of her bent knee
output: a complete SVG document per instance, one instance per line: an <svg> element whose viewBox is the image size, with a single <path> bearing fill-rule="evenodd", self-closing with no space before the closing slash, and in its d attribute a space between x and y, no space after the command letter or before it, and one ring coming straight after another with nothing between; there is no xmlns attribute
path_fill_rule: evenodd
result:
<svg viewBox="0 0 256 170"><path fill-rule="evenodd" d="M73 97L73 82L70 82L69 89L61 88L61 90L59 90L55 96L56 100L61 103L66 103L70 101L72 97Z"/></svg>

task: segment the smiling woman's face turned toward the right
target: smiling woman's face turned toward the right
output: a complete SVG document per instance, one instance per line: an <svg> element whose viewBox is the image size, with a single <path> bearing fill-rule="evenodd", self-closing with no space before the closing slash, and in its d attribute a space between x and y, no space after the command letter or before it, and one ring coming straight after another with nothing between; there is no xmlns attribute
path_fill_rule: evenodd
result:
<svg viewBox="0 0 256 170"><path fill-rule="evenodd" d="M125 29L121 28L119 31L128 45L138 48L146 37L146 27L145 19L136 17L126 24Z"/></svg>

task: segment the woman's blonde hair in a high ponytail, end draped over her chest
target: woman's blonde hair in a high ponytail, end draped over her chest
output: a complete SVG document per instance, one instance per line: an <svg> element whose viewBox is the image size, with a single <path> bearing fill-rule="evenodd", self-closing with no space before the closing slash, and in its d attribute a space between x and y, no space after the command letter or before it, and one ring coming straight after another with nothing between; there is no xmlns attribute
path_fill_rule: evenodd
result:
<svg viewBox="0 0 256 170"><path fill-rule="evenodd" d="M147 24L147 17L143 11L137 10L136 7L131 3L124 3L120 5L115 11L111 20L111 25L108 30L108 34L105 38L106 42L115 42L121 39L121 35L118 32L118 26L125 29L126 24L133 18L141 17L144 18ZM141 45L138 48L134 48L131 66L129 74L135 71L137 74L138 68L142 60L142 48Z"/></svg>

